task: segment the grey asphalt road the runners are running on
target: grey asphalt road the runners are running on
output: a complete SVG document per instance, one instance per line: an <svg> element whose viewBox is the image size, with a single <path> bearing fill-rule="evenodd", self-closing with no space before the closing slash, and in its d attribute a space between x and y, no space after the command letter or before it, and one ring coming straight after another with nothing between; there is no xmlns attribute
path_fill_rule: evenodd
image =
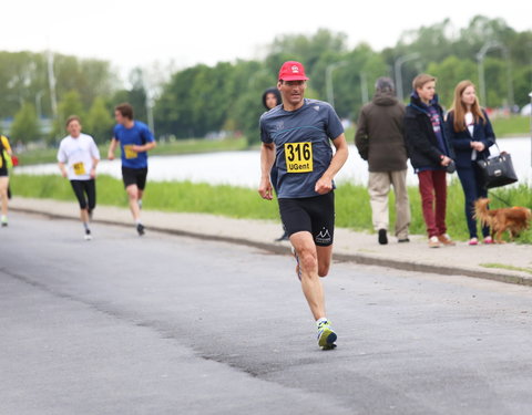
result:
<svg viewBox="0 0 532 415"><path fill-rule="evenodd" d="M321 351L294 260L10 215L0 414L530 414L532 288L335 263Z"/></svg>

